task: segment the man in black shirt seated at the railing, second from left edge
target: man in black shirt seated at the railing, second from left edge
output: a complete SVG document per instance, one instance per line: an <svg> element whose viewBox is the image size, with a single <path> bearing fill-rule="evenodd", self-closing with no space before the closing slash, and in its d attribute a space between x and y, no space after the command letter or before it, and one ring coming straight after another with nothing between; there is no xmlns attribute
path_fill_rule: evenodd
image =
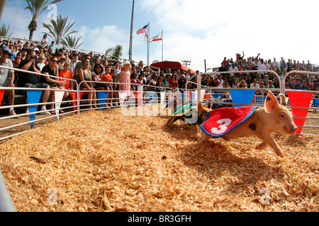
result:
<svg viewBox="0 0 319 226"><path fill-rule="evenodd" d="M40 71L35 67L35 58L35 51L30 50L27 59L21 61L19 64L19 69L40 73ZM35 75L34 73L18 72L18 87L50 89L50 85L47 85L46 83L39 83L39 78L40 75ZM43 92L42 101L47 102L49 95L50 90L45 90ZM41 111L45 110L46 105L43 105ZM50 112L42 112L41 114L48 115Z"/></svg>

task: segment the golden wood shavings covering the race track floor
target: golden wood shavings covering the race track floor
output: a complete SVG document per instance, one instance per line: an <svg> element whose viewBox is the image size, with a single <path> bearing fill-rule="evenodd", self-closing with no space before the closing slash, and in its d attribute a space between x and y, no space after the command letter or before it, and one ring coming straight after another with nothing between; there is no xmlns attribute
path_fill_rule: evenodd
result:
<svg viewBox="0 0 319 226"><path fill-rule="evenodd" d="M166 120L91 111L2 143L1 172L16 209L319 210L318 137L275 133L281 159L271 148L255 150L258 138L211 139L196 148L190 129L166 127ZM269 203L261 203L266 195Z"/></svg>

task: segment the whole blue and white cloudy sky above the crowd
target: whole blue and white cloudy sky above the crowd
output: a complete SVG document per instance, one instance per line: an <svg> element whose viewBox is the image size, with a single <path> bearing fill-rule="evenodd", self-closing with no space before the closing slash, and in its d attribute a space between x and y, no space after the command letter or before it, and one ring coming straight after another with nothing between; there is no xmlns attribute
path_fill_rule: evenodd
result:
<svg viewBox="0 0 319 226"><path fill-rule="evenodd" d="M135 0L133 26L133 59L147 60L147 44L136 31L150 22L150 36L164 30L164 60L191 61L190 67L204 71L220 65L223 57L310 60L319 64L317 11L313 0ZM11 24L13 37L28 37L30 13L24 11L25 0L7 0L0 24ZM123 45L123 58L128 58L132 0L75 1L57 4L57 13L76 22L74 30L82 36L83 49L105 52L116 44ZM38 19L34 39L43 36ZM161 60L162 43L150 44L150 63Z"/></svg>

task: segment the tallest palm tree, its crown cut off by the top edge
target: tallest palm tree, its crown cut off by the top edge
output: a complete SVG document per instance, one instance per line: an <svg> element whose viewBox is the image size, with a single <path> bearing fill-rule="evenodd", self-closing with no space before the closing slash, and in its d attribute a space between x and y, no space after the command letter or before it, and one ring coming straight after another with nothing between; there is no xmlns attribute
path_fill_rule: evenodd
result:
<svg viewBox="0 0 319 226"><path fill-rule="evenodd" d="M30 22L30 25L28 26L28 29L30 30L29 40L33 39L33 32L37 30L38 23L37 20L39 16L47 9L50 4L56 4L59 1L63 0L54 0L49 3L50 0L26 0L28 6L25 8L30 10L32 20Z"/></svg>

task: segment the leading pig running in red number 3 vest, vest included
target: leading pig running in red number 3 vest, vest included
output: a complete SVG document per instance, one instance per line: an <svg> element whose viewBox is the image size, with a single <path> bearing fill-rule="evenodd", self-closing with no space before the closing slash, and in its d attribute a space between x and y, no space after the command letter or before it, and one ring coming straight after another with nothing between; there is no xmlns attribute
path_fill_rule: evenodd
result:
<svg viewBox="0 0 319 226"><path fill-rule="evenodd" d="M272 137L272 132L295 134L298 128L293 122L289 109L286 108L285 95L281 94L280 97L279 105L274 94L269 91L262 108L224 108L221 109L222 112L216 112L216 110L208 112L206 121L201 124L203 133L198 140L198 146L211 137L221 137L229 141L231 138L257 136L263 141L256 147L257 150L262 150L269 145L276 155L284 157L284 153ZM214 117L217 119L213 119ZM235 126L232 125L233 121Z"/></svg>

